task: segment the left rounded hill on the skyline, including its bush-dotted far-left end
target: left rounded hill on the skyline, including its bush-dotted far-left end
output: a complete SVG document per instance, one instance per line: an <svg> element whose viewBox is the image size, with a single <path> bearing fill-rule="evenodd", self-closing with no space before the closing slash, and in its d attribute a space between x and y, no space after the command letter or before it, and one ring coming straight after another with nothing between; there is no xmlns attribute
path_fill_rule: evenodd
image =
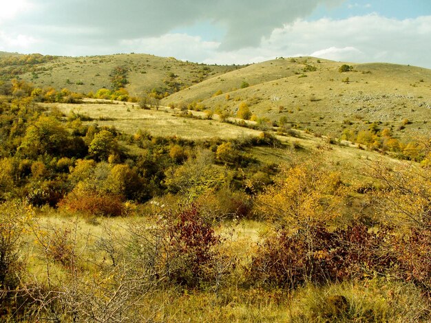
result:
<svg viewBox="0 0 431 323"><path fill-rule="evenodd" d="M10 56L16 60L7 60ZM28 63L29 57L49 57L49 60ZM140 96L152 89L173 93L207 78L224 74L241 66L204 65L183 62L176 58L148 54L115 54L105 56L41 56L40 54L0 54L1 78L21 78L35 87L67 88L79 93L110 88L110 76L116 67L127 70L127 90Z"/></svg>

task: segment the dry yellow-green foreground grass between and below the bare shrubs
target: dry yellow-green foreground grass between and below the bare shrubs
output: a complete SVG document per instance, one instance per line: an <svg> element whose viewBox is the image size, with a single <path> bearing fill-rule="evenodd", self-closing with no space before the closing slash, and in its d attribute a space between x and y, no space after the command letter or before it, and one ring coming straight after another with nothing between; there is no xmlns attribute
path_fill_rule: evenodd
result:
<svg viewBox="0 0 431 323"><path fill-rule="evenodd" d="M107 229L119 239L129 234L128 225L151 225L150 219L139 217L98 218L92 224L82 216L67 216L51 209L36 214L34 220L39 223L36 227L45 230L45 234L51 230L76 228L76 252L81 259L79 270L85 276L94 277L97 277L98 265L105 262L109 265L106 254L95 249L96 241L106 237ZM234 234L229 234L231 230ZM266 224L257 221L227 222L220 227L222 235L231 236L223 242L224 252L242 258L238 262L241 265L225 278L220 289L195 290L180 286L154 289L139 298L129 310L148 322L428 322L430 319L430 305L421 290L409 282L370 278L321 286L308 284L295 291L244 285L242 266L255 253L265 230ZM32 232L27 232L25 241L29 274L33 280L44 282L43 250L34 241ZM65 270L51 261L50 284L64 284L70 278Z"/></svg>

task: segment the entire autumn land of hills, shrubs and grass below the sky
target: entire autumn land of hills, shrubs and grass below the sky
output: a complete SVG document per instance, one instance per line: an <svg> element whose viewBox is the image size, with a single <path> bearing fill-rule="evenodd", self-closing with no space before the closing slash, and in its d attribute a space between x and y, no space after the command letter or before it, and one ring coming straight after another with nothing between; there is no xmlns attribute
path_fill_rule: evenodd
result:
<svg viewBox="0 0 431 323"><path fill-rule="evenodd" d="M0 321L429 322L431 71L0 53Z"/></svg>

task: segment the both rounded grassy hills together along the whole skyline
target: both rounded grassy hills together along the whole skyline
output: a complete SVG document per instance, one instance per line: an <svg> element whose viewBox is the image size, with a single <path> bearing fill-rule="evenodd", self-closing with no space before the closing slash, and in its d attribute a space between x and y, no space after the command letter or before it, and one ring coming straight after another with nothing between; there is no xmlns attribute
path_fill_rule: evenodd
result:
<svg viewBox="0 0 431 323"><path fill-rule="evenodd" d="M340 71L340 67L347 67ZM277 58L248 66L204 65L148 54L60 57L1 53L1 79L34 87L95 93L125 71L131 96L151 91L164 106L235 116L246 104L253 120L288 124L317 135L352 140L388 129L402 140L430 135L431 70L387 63L356 64L314 57Z"/></svg>

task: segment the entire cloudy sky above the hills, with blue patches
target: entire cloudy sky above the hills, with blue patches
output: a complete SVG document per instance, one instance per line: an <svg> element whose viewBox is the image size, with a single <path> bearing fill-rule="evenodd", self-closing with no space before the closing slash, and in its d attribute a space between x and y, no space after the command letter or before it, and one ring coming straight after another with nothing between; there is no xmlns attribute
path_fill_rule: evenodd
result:
<svg viewBox="0 0 431 323"><path fill-rule="evenodd" d="M315 56L431 69L431 0L0 0L0 51L197 63Z"/></svg>

